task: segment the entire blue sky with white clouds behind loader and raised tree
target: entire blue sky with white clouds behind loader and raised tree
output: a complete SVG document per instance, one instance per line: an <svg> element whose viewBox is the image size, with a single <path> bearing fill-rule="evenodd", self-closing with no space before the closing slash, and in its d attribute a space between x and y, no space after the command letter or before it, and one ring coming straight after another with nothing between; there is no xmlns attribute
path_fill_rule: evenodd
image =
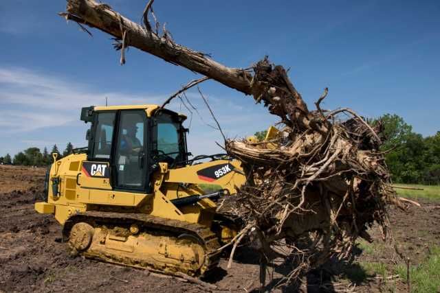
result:
<svg viewBox="0 0 440 293"><path fill-rule="evenodd" d="M107 1L140 21L146 0ZM440 130L440 1L156 0L159 22L177 43L230 67L270 56L313 108L348 106L366 117L396 113L416 132ZM57 15L65 1L0 1L0 155L37 146L85 145L83 106L160 103L198 75L137 49L119 52L110 37ZM228 137L276 121L252 98L216 82L201 85ZM219 152L219 132L197 91L188 143L193 154ZM176 100L170 106L190 113ZM189 122L188 118L188 122ZM189 126L189 123L187 124Z"/></svg>

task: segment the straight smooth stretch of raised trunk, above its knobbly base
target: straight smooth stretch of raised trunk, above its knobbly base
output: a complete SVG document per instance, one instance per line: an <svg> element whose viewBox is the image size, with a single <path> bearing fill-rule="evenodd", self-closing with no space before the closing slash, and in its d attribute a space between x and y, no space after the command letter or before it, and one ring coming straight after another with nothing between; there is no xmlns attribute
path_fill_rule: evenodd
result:
<svg viewBox="0 0 440 293"><path fill-rule="evenodd" d="M108 5L93 0L69 0L67 3L67 19L84 23L91 27L111 34L122 40L126 31L126 47L133 46L149 54L153 54L175 65L186 67L197 73L206 75L226 86L251 94L250 80L252 76L243 69L229 68L207 58L201 52L177 45L166 37L161 38L141 25L126 19ZM245 78L247 75L247 78Z"/></svg>

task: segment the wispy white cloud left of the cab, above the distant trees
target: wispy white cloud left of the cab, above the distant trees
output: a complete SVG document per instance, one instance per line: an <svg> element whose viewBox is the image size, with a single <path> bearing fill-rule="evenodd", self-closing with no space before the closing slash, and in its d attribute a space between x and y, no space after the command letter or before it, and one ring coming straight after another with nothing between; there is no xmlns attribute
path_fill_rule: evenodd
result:
<svg viewBox="0 0 440 293"><path fill-rule="evenodd" d="M105 97L122 104L143 104L146 100L126 93L96 91L84 84L22 68L0 68L0 89L0 126L8 126L8 130L2 130L8 132L77 121L82 106L103 104ZM148 97L148 101L159 99Z"/></svg>

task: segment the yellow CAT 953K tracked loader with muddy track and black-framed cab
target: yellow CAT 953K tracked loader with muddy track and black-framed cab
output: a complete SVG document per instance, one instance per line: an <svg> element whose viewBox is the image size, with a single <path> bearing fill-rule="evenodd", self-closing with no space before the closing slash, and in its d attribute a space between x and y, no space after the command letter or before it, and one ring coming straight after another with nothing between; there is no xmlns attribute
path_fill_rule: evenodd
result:
<svg viewBox="0 0 440 293"><path fill-rule="evenodd" d="M54 214L74 255L201 277L239 221L217 202L245 183L224 154L189 159L186 119L157 105L90 106L88 147L47 170L39 213ZM210 191L206 192L206 187Z"/></svg>

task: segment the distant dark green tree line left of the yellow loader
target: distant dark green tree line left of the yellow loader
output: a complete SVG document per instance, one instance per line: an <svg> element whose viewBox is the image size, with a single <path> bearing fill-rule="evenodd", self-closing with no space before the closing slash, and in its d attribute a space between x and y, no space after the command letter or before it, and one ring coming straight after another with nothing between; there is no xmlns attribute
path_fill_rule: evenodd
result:
<svg viewBox="0 0 440 293"><path fill-rule="evenodd" d="M68 156L69 154L74 153L74 145L72 145L72 143L67 143L63 154L58 150L56 144L52 147L51 152L47 152L47 148L44 148L43 152L41 152L39 148L32 147L23 150L23 152L19 152L14 158L11 158L10 154L0 156L0 163L3 163L4 165L45 166L53 163L53 153L58 154L58 158Z"/></svg>

